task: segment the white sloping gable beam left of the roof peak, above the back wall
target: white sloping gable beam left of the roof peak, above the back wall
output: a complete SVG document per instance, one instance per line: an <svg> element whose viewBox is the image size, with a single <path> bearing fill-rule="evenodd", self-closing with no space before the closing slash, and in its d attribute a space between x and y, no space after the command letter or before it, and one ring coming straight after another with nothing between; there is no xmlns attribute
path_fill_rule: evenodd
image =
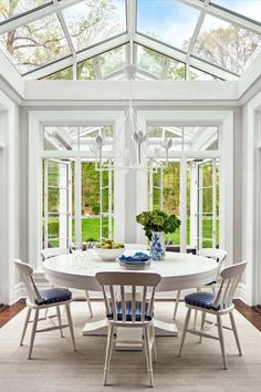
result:
<svg viewBox="0 0 261 392"><path fill-rule="evenodd" d="M107 52L116 47L121 47L128 42L128 34L122 34L115 38L112 38L105 42L96 44L92 48L85 49L84 51L76 53L76 62L92 59L98 54ZM35 80L48 76L54 72L64 70L67 66L73 65L73 56L66 59L61 59L52 64L42 66L33 72L28 73L23 76L24 80Z"/></svg>

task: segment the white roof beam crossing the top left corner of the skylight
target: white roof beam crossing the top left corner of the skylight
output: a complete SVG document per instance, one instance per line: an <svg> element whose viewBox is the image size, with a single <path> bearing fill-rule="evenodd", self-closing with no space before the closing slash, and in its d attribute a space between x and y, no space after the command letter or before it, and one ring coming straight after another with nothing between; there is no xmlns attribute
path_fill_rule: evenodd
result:
<svg viewBox="0 0 261 392"><path fill-rule="evenodd" d="M15 19L12 19L10 21L4 21L4 23L0 24L0 34L4 34L9 31L13 31L21 25L29 24L31 22L34 22L38 19L42 19L46 16L50 16L53 12L58 12L59 10L63 10L64 8L71 7L73 4L76 4L82 0L63 0L59 1L58 3L50 4L46 7L41 7L36 9L35 11L30 11L27 12L20 17L17 17Z"/></svg>

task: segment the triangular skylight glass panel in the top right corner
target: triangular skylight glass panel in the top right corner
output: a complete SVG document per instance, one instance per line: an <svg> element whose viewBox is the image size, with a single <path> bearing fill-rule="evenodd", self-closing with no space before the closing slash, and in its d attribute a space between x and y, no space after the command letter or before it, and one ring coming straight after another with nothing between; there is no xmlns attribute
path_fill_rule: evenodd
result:
<svg viewBox="0 0 261 392"><path fill-rule="evenodd" d="M261 0L213 0L211 4L261 22Z"/></svg>

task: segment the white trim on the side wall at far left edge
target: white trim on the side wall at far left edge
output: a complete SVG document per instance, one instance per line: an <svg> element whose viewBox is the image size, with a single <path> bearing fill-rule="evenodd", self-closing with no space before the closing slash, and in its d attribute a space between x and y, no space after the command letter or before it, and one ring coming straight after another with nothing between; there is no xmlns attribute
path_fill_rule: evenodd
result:
<svg viewBox="0 0 261 392"><path fill-rule="evenodd" d="M19 107L0 91L0 301L11 303L20 257Z"/></svg>

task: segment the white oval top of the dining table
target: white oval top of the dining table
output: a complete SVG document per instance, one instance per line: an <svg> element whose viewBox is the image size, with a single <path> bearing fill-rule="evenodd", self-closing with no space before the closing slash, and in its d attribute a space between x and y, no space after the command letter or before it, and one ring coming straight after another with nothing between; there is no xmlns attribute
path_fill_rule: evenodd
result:
<svg viewBox="0 0 261 392"><path fill-rule="evenodd" d="M152 261L148 268L135 271L142 274L147 271L157 272L160 274L165 282L175 279L175 281L180 282L180 285L185 279L195 279L196 285L197 279L200 278L201 280L198 282L200 286L202 285L202 278L205 278L206 283L210 281L209 279L215 279L217 267L218 265L215 260L206 257L167 251L164 260ZM95 279L95 275L98 271L134 271L119 266L117 260L102 261L95 259L92 252L87 252L84 257L79 257L75 254L55 256L45 260L43 268L49 280L54 283L58 282L58 279L60 279L59 283L63 280L64 283L66 283L67 280L70 280L69 287L73 287L72 282L77 281L75 288L81 286L80 281L82 281L82 283L84 281L90 283L91 280ZM184 286L189 287L189 285L185 283ZM194 287L194 285L191 287Z"/></svg>

